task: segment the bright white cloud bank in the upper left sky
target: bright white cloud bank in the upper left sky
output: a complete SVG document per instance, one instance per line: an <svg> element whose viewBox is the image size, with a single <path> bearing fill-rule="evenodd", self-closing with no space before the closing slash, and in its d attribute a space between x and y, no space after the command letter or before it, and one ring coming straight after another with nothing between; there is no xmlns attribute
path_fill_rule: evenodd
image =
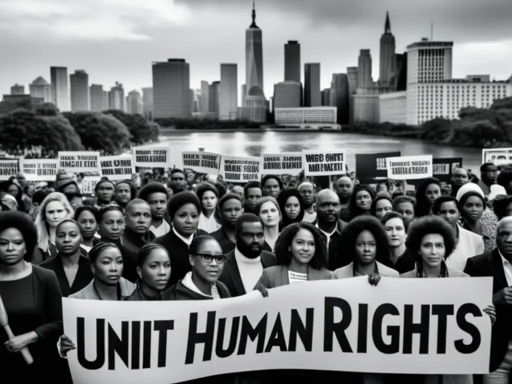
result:
<svg viewBox="0 0 512 384"><path fill-rule="evenodd" d="M0 1L0 30L31 40L148 40L148 28L189 20L174 0Z"/></svg>

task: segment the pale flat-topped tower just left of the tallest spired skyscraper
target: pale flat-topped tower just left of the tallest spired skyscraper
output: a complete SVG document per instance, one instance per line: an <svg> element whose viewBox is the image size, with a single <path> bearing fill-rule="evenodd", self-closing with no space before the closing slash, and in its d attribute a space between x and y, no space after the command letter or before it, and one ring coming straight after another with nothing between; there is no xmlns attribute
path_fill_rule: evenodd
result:
<svg viewBox="0 0 512 384"><path fill-rule="evenodd" d="M219 91L219 119L238 118L238 67L236 64L221 64Z"/></svg>

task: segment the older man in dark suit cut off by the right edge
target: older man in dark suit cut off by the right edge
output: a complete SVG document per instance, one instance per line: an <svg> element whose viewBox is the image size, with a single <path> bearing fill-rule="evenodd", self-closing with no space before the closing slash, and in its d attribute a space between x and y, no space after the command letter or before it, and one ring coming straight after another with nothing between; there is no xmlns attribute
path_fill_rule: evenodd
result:
<svg viewBox="0 0 512 384"><path fill-rule="evenodd" d="M464 272L472 277L493 278L493 304L496 323L490 342L490 373L483 375L485 383L509 382L512 371L512 217L500 220L496 233L497 248L467 259Z"/></svg>

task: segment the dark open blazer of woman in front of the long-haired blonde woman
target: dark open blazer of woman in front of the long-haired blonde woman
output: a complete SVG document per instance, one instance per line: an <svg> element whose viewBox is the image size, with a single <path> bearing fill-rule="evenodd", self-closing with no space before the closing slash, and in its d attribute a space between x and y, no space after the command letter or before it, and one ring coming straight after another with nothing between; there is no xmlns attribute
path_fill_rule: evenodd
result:
<svg viewBox="0 0 512 384"><path fill-rule="evenodd" d="M82 255L80 256L80 259L78 259L78 271L76 272L75 280L73 280L71 287L69 285L68 278L66 277L66 272L64 271L62 259L59 254L57 254L56 257L45 260L39 264L40 267L50 269L55 272L59 282L60 291L62 292L62 297L68 297L70 294L78 292L93 280L94 276L91 270L91 263L89 263L89 260L83 256L83 252L87 255L86 250L80 248L80 253L82 253Z"/></svg>

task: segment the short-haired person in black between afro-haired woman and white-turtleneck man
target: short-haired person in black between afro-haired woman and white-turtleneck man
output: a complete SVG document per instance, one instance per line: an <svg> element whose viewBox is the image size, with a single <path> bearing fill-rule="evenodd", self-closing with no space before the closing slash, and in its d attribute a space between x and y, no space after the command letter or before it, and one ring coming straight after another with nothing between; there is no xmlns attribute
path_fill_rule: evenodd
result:
<svg viewBox="0 0 512 384"><path fill-rule="evenodd" d="M242 198L235 194L226 194L217 203L217 213L222 226L210 236L217 240L222 253L231 252L236 246L236 225L242 215Z"/></svg>

